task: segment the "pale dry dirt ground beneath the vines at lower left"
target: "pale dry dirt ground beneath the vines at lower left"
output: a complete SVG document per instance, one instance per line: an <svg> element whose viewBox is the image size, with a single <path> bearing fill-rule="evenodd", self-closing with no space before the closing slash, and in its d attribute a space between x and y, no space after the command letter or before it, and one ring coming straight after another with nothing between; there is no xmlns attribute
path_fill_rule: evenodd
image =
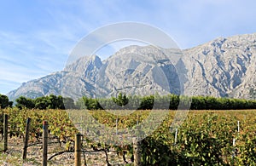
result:
<svg viewBox="0 0 256 166"><path fill-rule="evenodd" d="M30 142L31 144L32 142ZM29 146L27 149L27 158L25 161L22 160L23 152L23 139L12 138L8 142L8 151L3 153L3 140L0 142L0 165L3 166L32 166L42 165L42 144L36 146ZM65 151L65 145L60 146L59 144L49 144L48 146L48 158L53 156L57 152ZM86 150L87 151L87 150ZM128 165L132 165L130 157L126 157ZM106 162L106 156L104 152L86 152L85 153L86 164L89 165L108 165ZM108 161L112 165L126 165L121 156L118 156L116 152L108 152ZM48 161L48 165L74 165L74 153L65 152L58 155ZM82 165L84 165L84 155L82 154Z"/></svg>

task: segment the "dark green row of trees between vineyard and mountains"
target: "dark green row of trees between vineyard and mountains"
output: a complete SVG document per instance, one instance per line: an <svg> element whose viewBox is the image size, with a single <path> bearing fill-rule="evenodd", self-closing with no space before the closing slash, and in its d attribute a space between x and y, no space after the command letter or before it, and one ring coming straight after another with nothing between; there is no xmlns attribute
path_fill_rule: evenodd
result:
<svg viewBox="0 0 256 166"><path fill-rule="evenodd" d="M12 107L6 95L0 94L0 107ZM20 96L15 100L15 106L22 109L89 109L89 110L151 110L151 109L190 109L190 110L241 110L256 109L256 100L230 98L215 98L211 96L179 96L168 94L160 96L129 95L120 93L117 97L93 99L82 97L76 102L71 98L50 94L36 99Z"/></svg>

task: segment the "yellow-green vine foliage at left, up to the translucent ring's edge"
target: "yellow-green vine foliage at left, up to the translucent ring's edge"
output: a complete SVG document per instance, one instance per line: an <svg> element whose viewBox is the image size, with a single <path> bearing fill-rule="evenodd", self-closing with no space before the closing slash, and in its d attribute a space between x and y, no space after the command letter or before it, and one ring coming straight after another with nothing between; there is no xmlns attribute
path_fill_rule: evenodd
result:
<svg viewBox="0 0 256 166"><path fill-rule="evenodd" d="M48 121L49 132L60 141L74 140L78 130L67 116L67 112L61 110L30 110L23 107L21 110L17 107L1 110L0 112L0 131L3 130L3 113L9 117L9 136L24 136L26 130L27 117L32 118L30 127L30 136L34 141L38 141L42 136L43 121ZM2 124L2 125L1 125Z"/></svg>

